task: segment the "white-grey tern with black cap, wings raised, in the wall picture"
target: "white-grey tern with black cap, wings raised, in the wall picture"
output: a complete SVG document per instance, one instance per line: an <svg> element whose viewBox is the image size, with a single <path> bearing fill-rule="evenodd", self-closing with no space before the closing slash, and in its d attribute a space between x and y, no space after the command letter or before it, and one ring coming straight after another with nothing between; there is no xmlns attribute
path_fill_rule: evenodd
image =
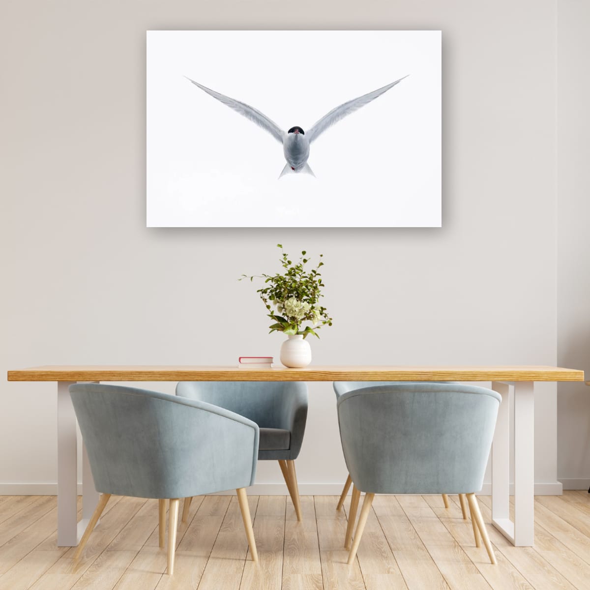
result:
<svg viewBox="0 0 590 590"><path fill-rule="evenodd" d="M404 78L407 78L407 76L404 76ZM251 122L267 130L274 139L283 145L283 153L287 163L283 168L283 172L278 176L278 178L281 178L285 174L294 172L303 172L315 176L307 163L310 143L314 142L328 127L332 127L334 123L337 123L340 119L346 117L346 115L355 112L355 110L360 109L365 104L369 104L372 100L375 100L378 96L386 93L390 88L393 88L396 84L404 80L404 78L399 78L399 80L383 86L383 88L363 94L358 99L349 100L347 103L340 104L340 106L332 109L322 119L317 121L311 129L307 130L307 133L299 126L291 127L289 131L284 132L273 120L269 119L259 110L254 109L254 107L215 92L215 90L202 86L202 84L191 80L191 78L186 79L195 84L195 86L198 86L201 90L204 90L207 94L210 94L214 99L219 100L230 107L230 109L234 109L246 117L246 119L250 119Z"/></svg>

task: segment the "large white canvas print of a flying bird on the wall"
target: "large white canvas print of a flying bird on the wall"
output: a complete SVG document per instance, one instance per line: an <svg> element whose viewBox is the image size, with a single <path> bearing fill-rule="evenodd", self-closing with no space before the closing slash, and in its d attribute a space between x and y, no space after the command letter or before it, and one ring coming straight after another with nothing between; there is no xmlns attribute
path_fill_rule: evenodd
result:
<svg viewBox="0 0 590 590"><path fill-rule="evenodd" d="M148 31L148 227L440 227L440 31Z"/></svg>

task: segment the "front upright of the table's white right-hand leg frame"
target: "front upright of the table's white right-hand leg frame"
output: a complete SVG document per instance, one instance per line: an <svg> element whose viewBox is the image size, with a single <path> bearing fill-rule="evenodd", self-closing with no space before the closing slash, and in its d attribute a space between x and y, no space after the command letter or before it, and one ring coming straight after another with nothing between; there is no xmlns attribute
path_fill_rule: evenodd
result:
<svg viewBox="0 0 590 590"><path fill-rule="evenodd" d="M534 383L514 383L514 545L535 545Z"/></svg>

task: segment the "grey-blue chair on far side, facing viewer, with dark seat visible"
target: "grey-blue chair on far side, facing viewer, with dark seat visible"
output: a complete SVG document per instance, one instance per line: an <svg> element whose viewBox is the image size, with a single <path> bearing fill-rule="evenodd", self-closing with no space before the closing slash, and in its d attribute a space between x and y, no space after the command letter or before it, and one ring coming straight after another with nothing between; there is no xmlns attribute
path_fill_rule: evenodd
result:
<svg viewBox="0 0 590 590"><path fill-rule="evenodd" d="M246 369L244 369L246 370ZM295 460L307 420L307 385L294 381L181 381L176 395L199 399L249 418L260 428L258 460L275 460L301 520ZM185 499L186 518L191 497Z"/></svg>

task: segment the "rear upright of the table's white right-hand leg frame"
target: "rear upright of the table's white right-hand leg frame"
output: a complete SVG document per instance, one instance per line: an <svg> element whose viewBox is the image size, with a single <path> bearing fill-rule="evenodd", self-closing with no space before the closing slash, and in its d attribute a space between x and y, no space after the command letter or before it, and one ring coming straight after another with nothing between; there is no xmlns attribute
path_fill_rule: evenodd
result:
<svg viewBox="0 0 590 590"><path fill-rule="evenodd" d="M491 388L502 396L494 440L491 444L491 522L514 542L510 520L510 385L493 382Z"/></svg>

